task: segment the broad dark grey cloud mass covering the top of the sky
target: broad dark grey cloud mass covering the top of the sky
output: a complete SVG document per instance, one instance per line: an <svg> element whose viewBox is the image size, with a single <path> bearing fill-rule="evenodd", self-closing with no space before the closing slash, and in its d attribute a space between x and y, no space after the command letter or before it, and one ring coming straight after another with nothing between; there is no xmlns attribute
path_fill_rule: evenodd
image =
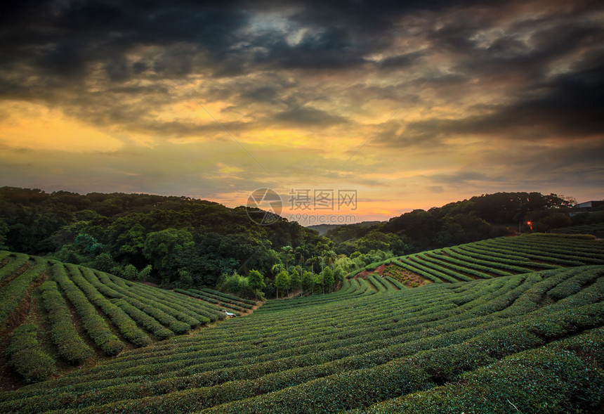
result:
<svg viewBox="0 0 604 414"><path fill-rule="evenodd" d="M506 90L500 105L476 107L470 117L388 126L377 138L388 145L439 143L453 134L572 138L601 134L604 127L598 93L604 28L593 18L603 6L596 1L56 0L1 7L0 99L44 101L99 125L202 134L206 127L150 115L179 96L166 85L191 75L216 79L192 91L202 101L238 96L230 110L272 105L266 122L345 124L341 115L309 104L323 91L300 88L294 95L295 82L284 82L280 73L357 70L377 77L416 73L404 82L433 86L453 104L471 82ZM297 32L298 39L289 38ZM400 46L414 41L419 50L418 44ZM367 58L380 53L388 57L379 63ZM581 53L581 62L552 75L560 61L576 61ZM270 75L244 79L263 72ZM406 86L359 88L372 98L404 101L399 89ZM506 96L506 86L520 92Z"/></svg>

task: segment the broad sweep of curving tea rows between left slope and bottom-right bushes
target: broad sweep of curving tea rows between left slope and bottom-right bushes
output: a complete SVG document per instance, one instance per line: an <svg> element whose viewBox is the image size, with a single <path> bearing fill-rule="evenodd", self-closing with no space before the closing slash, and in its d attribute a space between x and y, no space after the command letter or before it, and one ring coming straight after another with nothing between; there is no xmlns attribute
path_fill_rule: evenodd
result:
<svg viewBox="0 0 604 414"><path fill-rule="evenodd" d="M362 295L369 292L367 280L350 280L350 288L355 291L357 283L360 295L345 290L275 306L270 301L251 316L211 330L129 351L19 392L0 393L0 411L301 413L363 408L457 382L505 356L604 325L604 278L582 276L603 269L371 290L374 295ZM571 287L562 299L552 295L569 280L579 283L578 291Z"/></svg>

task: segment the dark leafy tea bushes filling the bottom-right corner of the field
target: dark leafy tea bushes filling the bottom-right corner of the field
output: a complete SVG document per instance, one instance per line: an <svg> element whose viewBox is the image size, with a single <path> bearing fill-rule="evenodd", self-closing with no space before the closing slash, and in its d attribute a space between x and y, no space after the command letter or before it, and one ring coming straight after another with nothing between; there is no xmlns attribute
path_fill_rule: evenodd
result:
<svg viewBox="0 0 604 414"><path fill-rule="evenodd" d="M520 413L596 412L604 377L590 359L601 361L603 356L591 344L603 341L602 328L589 330L472 370L461 375L459 382L382 401L350 414L497 413L502 401L509 401L510 410ZM508 381L511 377L513 382Z"/></svg>

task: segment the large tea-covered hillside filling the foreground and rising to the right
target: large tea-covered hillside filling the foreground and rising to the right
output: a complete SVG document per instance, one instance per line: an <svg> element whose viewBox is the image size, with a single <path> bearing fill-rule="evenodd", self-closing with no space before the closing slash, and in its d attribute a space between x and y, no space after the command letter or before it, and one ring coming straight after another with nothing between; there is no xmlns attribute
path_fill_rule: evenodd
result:
<svg viewBox="0 0 604 414"><path fill-rule="evenodd" d="M519 242L530 264L481 263L477 271L490 278L458 281L454 272L465 271L440 269L455 279L407 288L389 276L357 275L331 295L268 301L244 318L0 393L0 411L596 412L604 265L579 261L599 261L604 247L582 238ZM454 250L475 254L459 259L466 264L483 260L469 247ZM531 269L539 263L543 270Z"/></svg>

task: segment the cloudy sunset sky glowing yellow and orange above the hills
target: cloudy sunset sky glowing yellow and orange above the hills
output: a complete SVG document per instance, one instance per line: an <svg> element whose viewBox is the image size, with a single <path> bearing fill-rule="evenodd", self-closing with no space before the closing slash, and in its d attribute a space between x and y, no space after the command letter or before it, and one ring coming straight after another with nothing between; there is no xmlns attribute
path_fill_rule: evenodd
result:
<svg viewBox="0 0 604 414"><path fill-rule="evenodd" d="M603 160L601 1L0 6L0 186L228 207L271 188L308 225L601 200Z"/></svg>

